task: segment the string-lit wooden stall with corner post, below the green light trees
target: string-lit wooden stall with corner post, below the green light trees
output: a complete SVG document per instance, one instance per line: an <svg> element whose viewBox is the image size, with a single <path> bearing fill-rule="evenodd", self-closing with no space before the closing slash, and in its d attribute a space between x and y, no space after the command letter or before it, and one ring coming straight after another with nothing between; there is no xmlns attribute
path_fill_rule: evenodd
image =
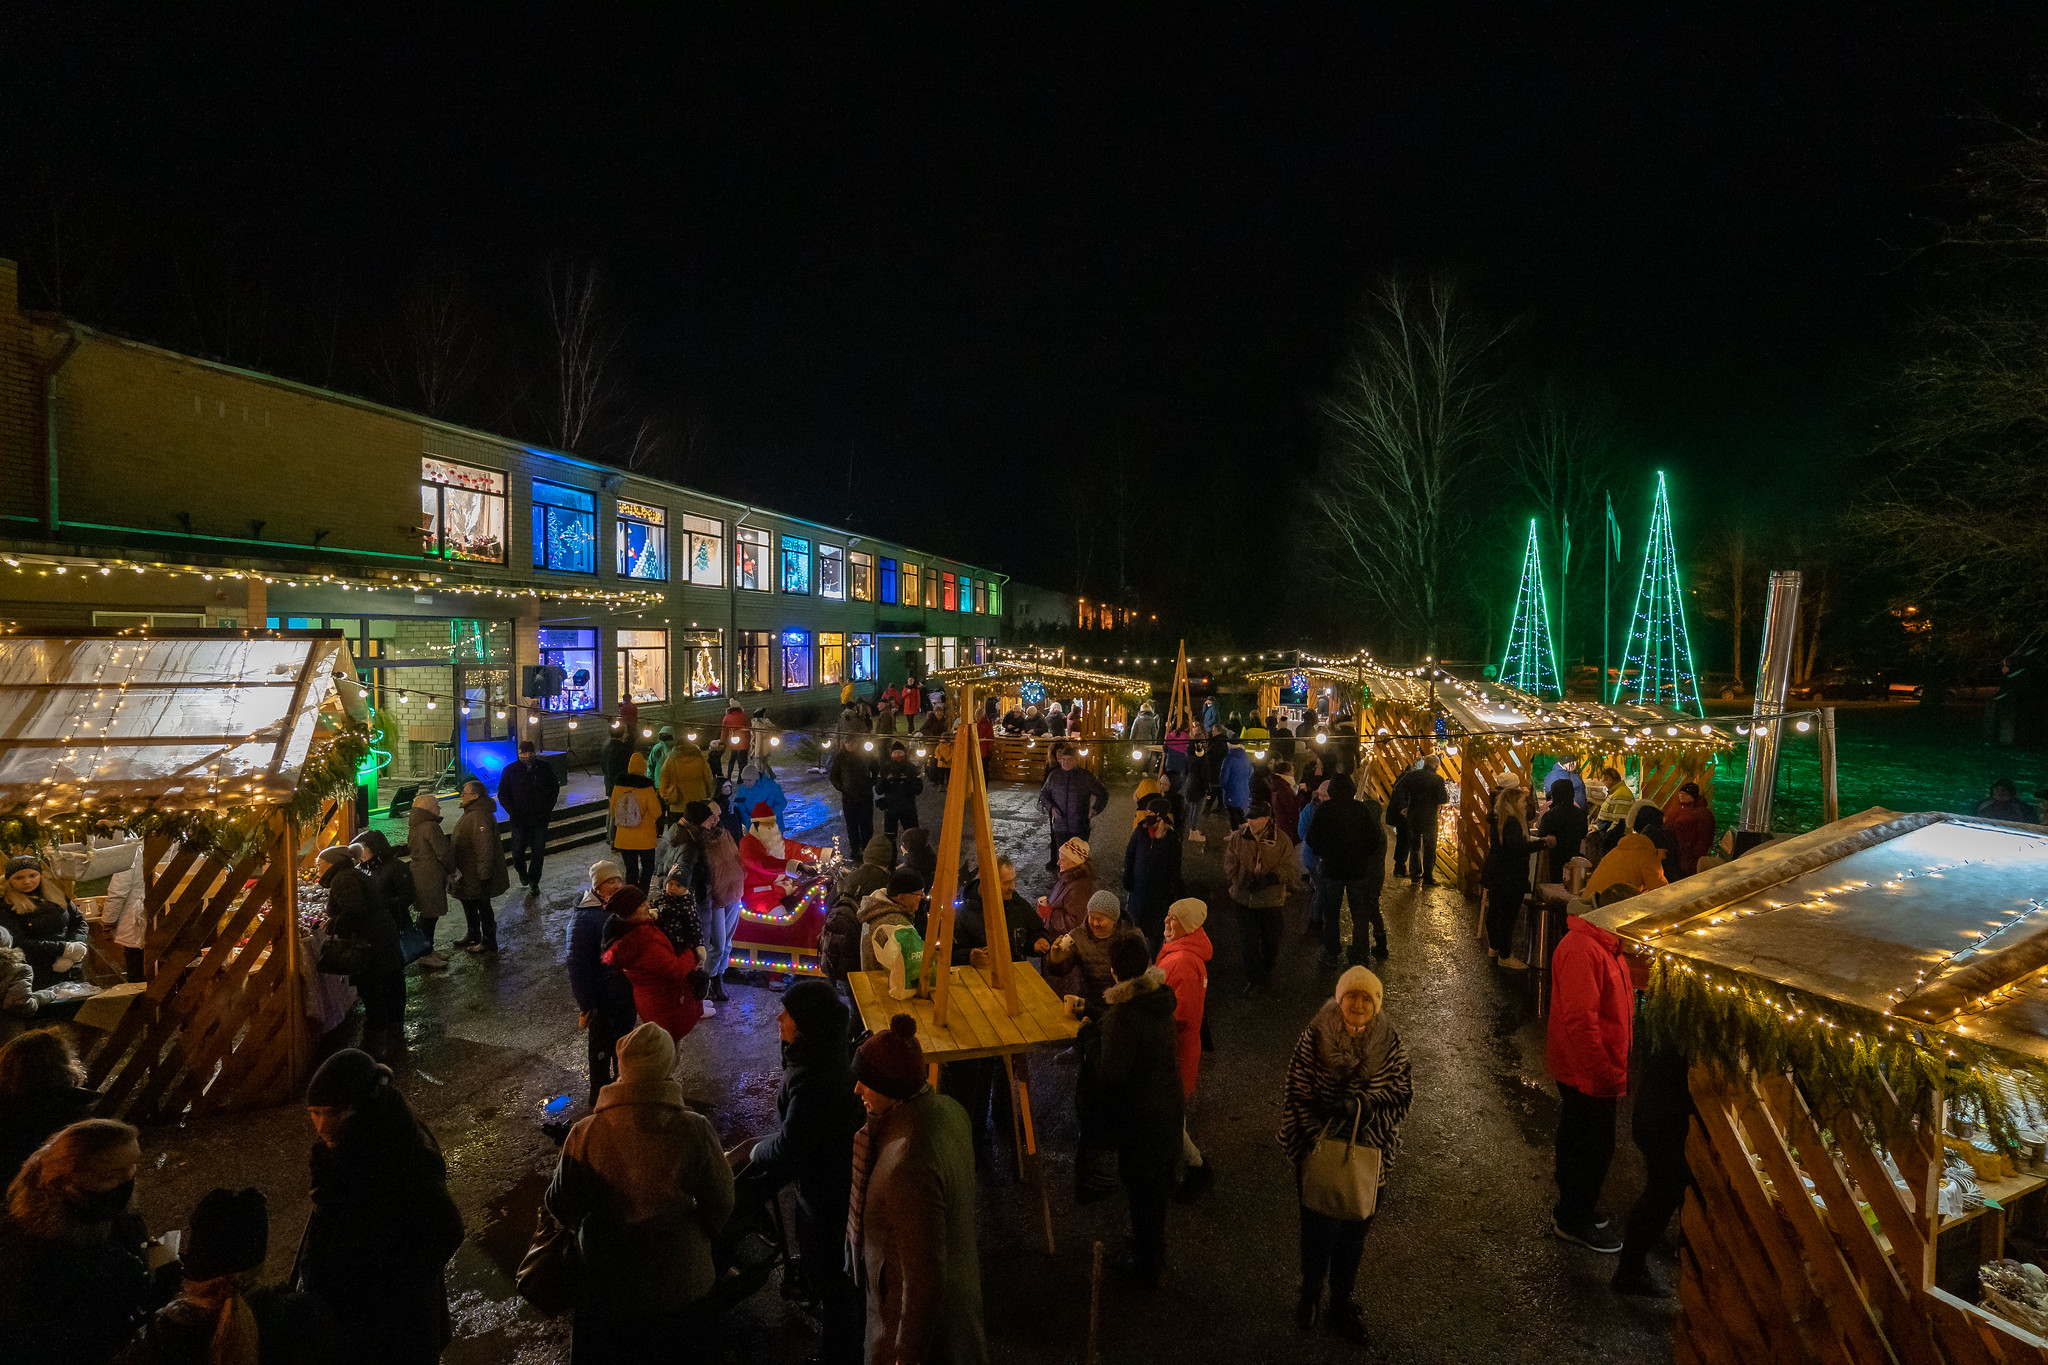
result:
<svg viewBox="0 0 2048 1365"><path fill-rule="evenodd" d="M1663 706L1544 702L1440 667L1393 669L1370 655L1247 677L1260 690L1262 714L1294 686L1327 686L1341 696L1354 710L1333 708L1333 714L1339 720L1350 714L1358 739L1333 733L1309 743L1356 745L1360 790L1376 800L1386 800L1395 778L1415 759L1436 755L1456 796L1438 817L1436 876L1468 896L1479 894L1493 796L1509 780L1522 788L1540 784L1548 767L1532 774L1536 755L1575 757L1587 778L1612 765L1636 796L1661 806L1686 782L1698 782L1702 800L1712 802L1714 757L1735 747L1726 724Z"/></svg>

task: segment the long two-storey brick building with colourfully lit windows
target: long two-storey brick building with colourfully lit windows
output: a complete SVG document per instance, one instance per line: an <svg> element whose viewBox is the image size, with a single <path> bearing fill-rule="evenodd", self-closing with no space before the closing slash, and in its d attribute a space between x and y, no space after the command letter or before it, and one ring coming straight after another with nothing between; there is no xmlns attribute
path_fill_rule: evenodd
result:
<svg viewBox="0 0 2048 1365"><path fill-rule="evenodd" d="M0 260L0 618L338 628L391 776L455 726L594 755L623 700L801 726L985 657L1008 579L18 307ZM463 710L467 704L467 712Z"/></svg>

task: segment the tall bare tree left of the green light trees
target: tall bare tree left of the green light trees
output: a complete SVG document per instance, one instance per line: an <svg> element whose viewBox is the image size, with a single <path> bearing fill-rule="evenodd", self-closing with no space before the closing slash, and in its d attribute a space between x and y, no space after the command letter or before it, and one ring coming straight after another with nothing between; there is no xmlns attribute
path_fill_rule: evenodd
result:
<svg viewBox="0 0 2048 1365"><path fill-rule="evenodd" d="M1315 524L1339 573L1436 653L1495 434L1491 372L1505 329L1473 321L1444 278L1389 276L1321 401L1329 428Z"/></svg>

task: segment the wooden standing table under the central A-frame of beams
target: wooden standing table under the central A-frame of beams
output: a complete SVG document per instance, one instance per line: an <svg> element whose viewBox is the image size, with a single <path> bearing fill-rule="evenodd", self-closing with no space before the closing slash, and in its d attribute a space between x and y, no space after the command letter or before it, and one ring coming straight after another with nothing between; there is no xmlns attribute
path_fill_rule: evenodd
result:
<svg viewBox="0 0 2048 1365"><path fill-rule="evenodd" d="M946 1025L932 1021L932 1001L913 997L899 1001L889 995L887 972L848 972L854 988L854 1005L860 1009L860 1023L881 1033L895 1015L909 1015L918 1021L918 1046L930 1066L932 1085L938 1085L940 1066L946 1062L967 1062L973 1058L1004 1060L1004 1074L1010 1081L1010 1138L1018 1154L1018 1177L1034 1179L1038 1185L1038 1207L1044 1216L1044 1250L1053 1252L1053 1199L1044 1187L1044 1164L1038 1160L1038 1134L1030 1117L1030 1081L1020 1066L1022 1054L1034 1048L1063 1048L1081 1031L1081 1021L1067 1015L1053 986L1044 984L1038 972L1022 962L1012 964L1018 1003L1016 1015L1004 1011L1001 990L989 984L981 968L952 968L946 993ZM1028 1158L1028 1160L1026 1160Z"/></svg>

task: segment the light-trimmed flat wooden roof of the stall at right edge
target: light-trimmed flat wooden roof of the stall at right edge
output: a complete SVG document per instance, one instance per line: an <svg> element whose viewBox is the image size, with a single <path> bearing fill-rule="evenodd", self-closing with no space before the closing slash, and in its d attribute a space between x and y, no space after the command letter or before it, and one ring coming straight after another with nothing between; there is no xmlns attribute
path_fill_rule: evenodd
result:
<svg viewBox="0 0 2048 1365"><path fill-rule="evenodd" d="M2048 829L1864 810L1585 919L2048 1060Z"/></svg>

